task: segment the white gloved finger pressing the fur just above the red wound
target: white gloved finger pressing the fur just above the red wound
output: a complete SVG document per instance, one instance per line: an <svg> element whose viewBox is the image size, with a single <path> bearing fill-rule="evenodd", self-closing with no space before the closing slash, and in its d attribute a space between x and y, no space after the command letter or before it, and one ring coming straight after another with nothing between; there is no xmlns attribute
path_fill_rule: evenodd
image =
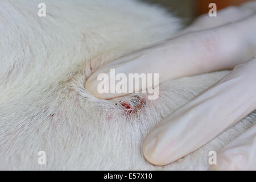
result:
<svg viewBox="0 0 256 182"><path fill-rule="evenodd" d="M106 73L110 79L115 79L110 75L110 69L115 69L115 75L123 73L127 77L129 73L159 73L159 84L179 77L233 69L256 54L255 30L254 14L240 22L179 36L105 65L88 78L85 88L93 96L104 99L130 93L98 92L98 84L101 81L97 80L97 77L100 73ZM109 85L110 82L111 80ZM129 90L128 80L124 82ZM142 85L135 85L134 92L146 89L142 88Z"/></svg>

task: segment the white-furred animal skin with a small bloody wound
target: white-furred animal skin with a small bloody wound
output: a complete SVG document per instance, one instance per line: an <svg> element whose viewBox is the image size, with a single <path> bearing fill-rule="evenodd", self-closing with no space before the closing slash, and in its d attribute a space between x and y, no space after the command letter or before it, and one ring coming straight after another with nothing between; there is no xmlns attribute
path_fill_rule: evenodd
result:
<svg viewBox="0 0 256 182"><path fill-rule="evenodd" d="M210 151L256 121L254 111L192 154L153 166L141 150L147 133L229 71L166 82L157 100L98 99L84 88L97 68L170 39L180 20L124 0L44 1L46 17L39 17L39 3L0 1L0 169L205 170ZM38 164L39 151L46 165Z"/></svg>

